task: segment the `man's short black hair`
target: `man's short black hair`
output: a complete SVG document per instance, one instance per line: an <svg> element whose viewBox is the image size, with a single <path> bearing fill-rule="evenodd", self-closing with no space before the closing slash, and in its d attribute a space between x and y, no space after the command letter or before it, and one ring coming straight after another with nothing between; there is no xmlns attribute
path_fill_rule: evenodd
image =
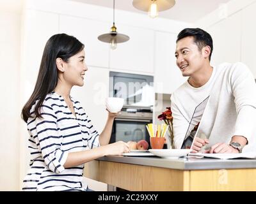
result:
<svg viewBox="0 0 256 204"><path fill-rule="evenodd" d="M194 42L196 43L199 50L202 50L202 48L207 45L211 47L211 52L209 55L209 61L211 61L211 55L213 50L211 35L200 28L186 28L180 31L180 33L177 36L176 43L182 38L186 38L189 36L193 36Z"/></svg>

